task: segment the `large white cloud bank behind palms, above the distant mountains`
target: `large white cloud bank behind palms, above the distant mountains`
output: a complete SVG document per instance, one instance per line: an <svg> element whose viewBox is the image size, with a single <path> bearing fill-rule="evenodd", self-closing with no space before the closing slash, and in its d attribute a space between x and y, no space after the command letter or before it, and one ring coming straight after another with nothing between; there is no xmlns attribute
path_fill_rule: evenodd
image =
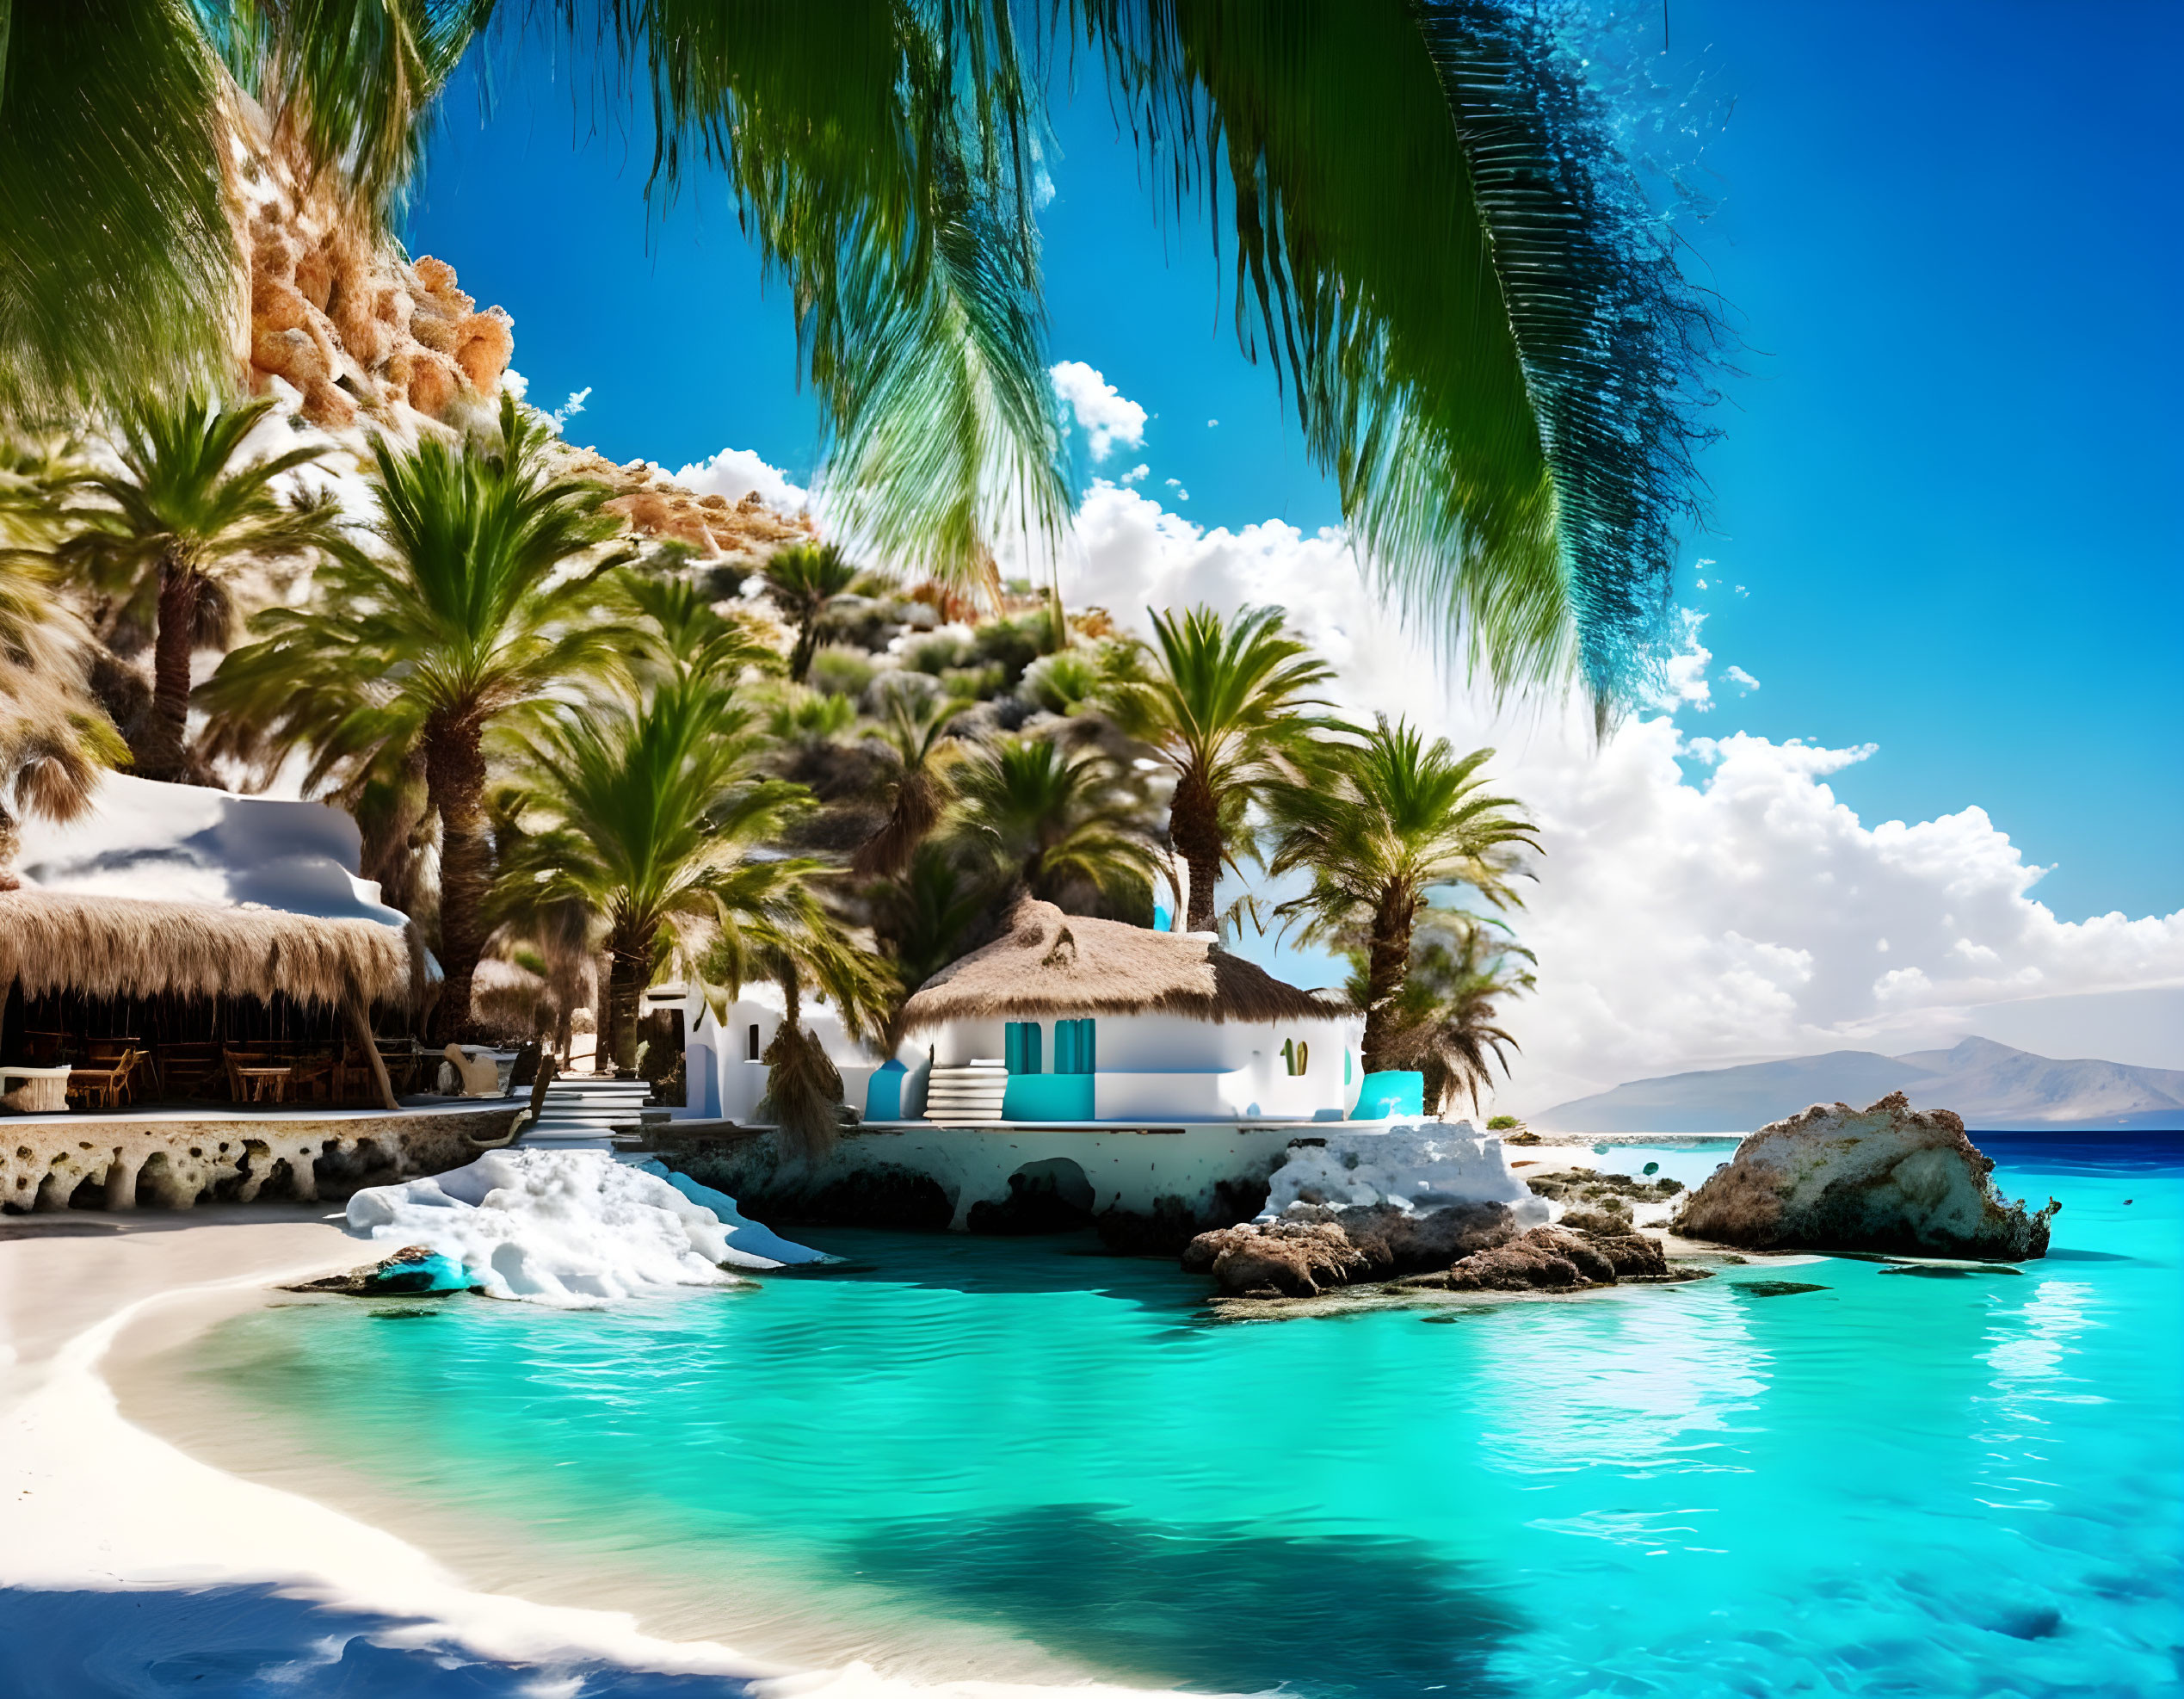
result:
<svg viewBox="0 0 2184 1699"><path fill-rule="evenodd" d="M1712 705L1697 614L1658 710L1597 745L1577 705L1496 710L1452 690L1365 594L1339 531L1201 528L1096 480L1064 587L1136 627L1147 607L1278 603L1337 668L1348 710L1503 751L1498 777L1546 847L1516 915L1540 991L1507 1011L1524 1046L1511 1107L1758 1055L1944 1044L1990 1013L1996 1037L2027 1044L2018 1007L2053 1024L2073 998L2184 985L2184 908L2062 919L2031 895L2044 869L1981 808L1861 821L1828 780L1874 745L1688 736L1669 710Z"/></svg>

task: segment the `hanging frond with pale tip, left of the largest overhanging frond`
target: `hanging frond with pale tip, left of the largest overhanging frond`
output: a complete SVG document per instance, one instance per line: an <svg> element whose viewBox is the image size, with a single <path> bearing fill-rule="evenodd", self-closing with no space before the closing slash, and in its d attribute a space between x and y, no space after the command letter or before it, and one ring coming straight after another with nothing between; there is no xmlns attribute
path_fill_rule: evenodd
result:
<svg viewBox="0 0 2184 1699"><path fill-rule="evenodd" d="M1068 522L1037 299L1037 79L1009 0L561 0L653 103L653 183L734 186L852 535L952 587Z"/></svg>

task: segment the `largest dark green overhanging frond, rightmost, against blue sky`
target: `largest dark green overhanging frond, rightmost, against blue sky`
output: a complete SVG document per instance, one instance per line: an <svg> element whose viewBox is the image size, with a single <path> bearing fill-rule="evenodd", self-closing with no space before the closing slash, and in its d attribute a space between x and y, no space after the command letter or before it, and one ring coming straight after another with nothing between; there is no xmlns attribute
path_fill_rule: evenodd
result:
<svg viewBox="0 0 2184 1699"><path fill-rule="evenodd" d="M1514 0L1083 0L1378 581L1605 712L1660 649L1719 325L1577 55Z"/></svg>

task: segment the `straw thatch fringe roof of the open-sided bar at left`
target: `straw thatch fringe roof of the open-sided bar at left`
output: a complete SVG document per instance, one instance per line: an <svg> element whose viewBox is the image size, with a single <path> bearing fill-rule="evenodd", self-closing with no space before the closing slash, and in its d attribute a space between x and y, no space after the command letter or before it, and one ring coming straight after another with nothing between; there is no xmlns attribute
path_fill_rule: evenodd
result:
<svg viewBox="0 0 2184 1699"><path fill-rule="evenodd" d="M79 891L0 893L0 987L98 998L275 994L415 1005L428 959L411 928L280 908L146 902Z"/></svg>

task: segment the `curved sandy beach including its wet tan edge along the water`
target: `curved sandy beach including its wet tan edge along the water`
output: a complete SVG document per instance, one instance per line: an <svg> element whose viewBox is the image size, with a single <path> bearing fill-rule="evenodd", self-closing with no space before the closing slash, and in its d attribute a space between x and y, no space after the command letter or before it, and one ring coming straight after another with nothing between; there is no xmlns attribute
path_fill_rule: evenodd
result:
<svg viewBox="0 0 2184 1699"><path fill-rule="evenodd" d="M1531 1173L1590 1155L1575 1140L1533 1149ZM725 1577L644 1553L561 1551L515 1520L404 1496L349 1465L339 1443L238 1422L249 1411L190 1385L192 1345L210 1330L271 1304L354 1304L282 1288L367 1260L373 1249L323 1205L0 1221L0 1590L264 1588L266 1599L367 1612L378 1623L360 1631L382 1644L788 1682L797 1695L845 1682L1131 1692L961 1623L906 1625L876 1644L869 1623L802 1596L793 1572L723 1588Z"/></svg>

